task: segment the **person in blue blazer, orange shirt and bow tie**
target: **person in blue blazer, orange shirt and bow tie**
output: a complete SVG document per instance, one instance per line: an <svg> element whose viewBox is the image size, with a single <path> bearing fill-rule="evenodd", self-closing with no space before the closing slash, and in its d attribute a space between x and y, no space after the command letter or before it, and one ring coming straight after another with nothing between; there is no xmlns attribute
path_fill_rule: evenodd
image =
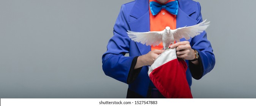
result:
<svg viewBox="0 0 256 106"><path fill-rule="evenodd" d="M177 14L161 9L158 14L152 14L151 3L164 5L175 0L136 0L122 5L114 25L114 36L107 44L103 54L103 71L107 76L129 84L127 98L163 98L155 89L147 74L163 45L150 47L132 41L127 36L127 30L136 32L161 31L169 26L171 29L192 26L202 22L201 6L192 0L177 0ZM174 5L176 5L174 3ZM186 41L173 44L178 58L186 60L188 69L186 79L189 86L192 77L199 80L210 72L215 65L215 56L206 32ZM124 55L129 53L129 57ZM196 57L197 54L199 57Z"/></svg>

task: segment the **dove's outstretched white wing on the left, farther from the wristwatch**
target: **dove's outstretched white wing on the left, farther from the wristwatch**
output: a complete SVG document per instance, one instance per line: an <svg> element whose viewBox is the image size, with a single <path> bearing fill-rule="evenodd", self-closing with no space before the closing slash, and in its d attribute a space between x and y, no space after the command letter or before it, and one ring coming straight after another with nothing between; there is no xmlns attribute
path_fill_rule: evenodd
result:
<svg viewBox="0 0 256 106"><path fill-rule="evenodd" d="M162 42L163 31L152 31L152 32L133 32L128 31L128 36L135 42L148 45L159 45Z"/></svg>

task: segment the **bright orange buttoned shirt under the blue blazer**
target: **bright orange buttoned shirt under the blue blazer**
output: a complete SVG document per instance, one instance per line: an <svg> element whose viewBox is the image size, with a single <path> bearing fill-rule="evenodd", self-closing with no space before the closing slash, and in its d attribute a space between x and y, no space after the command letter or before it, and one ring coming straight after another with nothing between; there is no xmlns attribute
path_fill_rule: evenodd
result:
<svg viewBox="0 0 256 106"><path fill-rule="evenodd" d="M149 2L158 2L156 0L149 0ZM175 0L169 0L168 2L172 2ZM168 3L166 2L166 3ZM158 2L159 3L159 2ZM160 3L161 4L161 3ZM150 31L163 31L165 27L170 27L171 30L176 29L176 15L171 14L166 9L161 9L161 11L153 16L153 14L150 11L149 7L149 19L150 19ZM159 44L158 46L153 47L151 46L151 50L162 50L163 49L163 43Z"/></svg>

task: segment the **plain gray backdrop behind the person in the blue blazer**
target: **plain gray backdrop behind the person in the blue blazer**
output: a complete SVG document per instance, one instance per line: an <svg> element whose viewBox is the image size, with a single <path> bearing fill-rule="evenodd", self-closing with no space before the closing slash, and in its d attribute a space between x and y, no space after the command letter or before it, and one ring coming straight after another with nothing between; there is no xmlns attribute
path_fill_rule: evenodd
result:
<svg viewBox="0 0 256 106"><path fill-rule="evenodd" d="M123 3L0 0L0 98L125 98L101 56ZM194 98L256 98L255 0L196 0L216 56Z"/></svg>

